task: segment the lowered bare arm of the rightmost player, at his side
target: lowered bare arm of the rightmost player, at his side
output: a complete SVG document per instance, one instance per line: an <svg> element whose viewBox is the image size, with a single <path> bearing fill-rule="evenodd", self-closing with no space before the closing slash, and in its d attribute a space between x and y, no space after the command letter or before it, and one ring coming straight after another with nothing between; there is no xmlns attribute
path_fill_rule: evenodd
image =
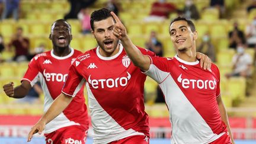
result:
<svg viewBox="0 0 256 144"><path fill-rule="evenodd" d="M235 141L233 140L232 133L231 133L231 127L229 126L228 114L226 113L226 108L225 108L225 105L222 102L221 96L217 97L217 104L218 104L218 107L219 107L220 116L222 118L222 121L224 121L224 123L226 124L226 127L227 127L228 132L229 132L229 136L231 137L231 142L235 143Z"/></svg>

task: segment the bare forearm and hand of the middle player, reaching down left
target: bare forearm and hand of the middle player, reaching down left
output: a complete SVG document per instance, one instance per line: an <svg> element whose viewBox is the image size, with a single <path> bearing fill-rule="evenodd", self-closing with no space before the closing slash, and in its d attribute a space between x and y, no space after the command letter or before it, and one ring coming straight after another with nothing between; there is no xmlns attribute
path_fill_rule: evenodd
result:
<svg viewBox="0 0 256 144"><path fill-rule="evenodd" d="M73 100L73 97L70 97L65 94L60 94L55 101L53 101L50 108L46 111L46 113L43 114L41 119L32 127L30 130L30 133L28 133L28 139L27 141L30 142L33 135L35 133L41 134L44 130L44 126L55 119L60 113L62 113L63 110L65 110L66 107L71 103Z"/></svg>

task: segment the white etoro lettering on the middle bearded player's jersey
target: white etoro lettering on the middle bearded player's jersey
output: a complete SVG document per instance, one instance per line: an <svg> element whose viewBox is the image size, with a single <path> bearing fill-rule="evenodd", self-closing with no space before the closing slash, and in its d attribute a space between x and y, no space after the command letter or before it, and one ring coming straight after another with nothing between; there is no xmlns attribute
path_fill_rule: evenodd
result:
<svg viewBox="0 0 256 144"><path fill-rule="evenodd" d="M129 79L131 78L131 75L129 72L127 72L126 77L121 78L108 78L108 79L91 79L91 75L89 75L88 82L92 85L93 88L114 88L114 87L124 87L128 84Z"/></svg>

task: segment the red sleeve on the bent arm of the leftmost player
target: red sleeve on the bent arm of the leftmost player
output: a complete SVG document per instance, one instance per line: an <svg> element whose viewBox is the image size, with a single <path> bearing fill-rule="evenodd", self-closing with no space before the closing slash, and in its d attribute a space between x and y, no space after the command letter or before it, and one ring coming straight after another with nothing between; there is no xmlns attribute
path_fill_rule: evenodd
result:
<svg viewBox="0 0 256 144"><path fill-rule="evenodd" d="M25 75L23 76L23 79L21 81L29 81L30 85L33 87L34 84L39 80L39 59L35 56L33 59L31 59L30 63L28 63L28 69L25 72Z"/></svg>

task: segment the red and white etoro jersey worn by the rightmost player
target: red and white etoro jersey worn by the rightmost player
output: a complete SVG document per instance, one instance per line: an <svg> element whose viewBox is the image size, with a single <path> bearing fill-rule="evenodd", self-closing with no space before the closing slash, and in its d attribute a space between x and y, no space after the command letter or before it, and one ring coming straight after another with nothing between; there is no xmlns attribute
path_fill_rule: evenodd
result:
<svg viewBox="0 0 256 144"><path fill-rule="evenodd" d="M216 98L220 95L219 69L204 71L200 63L151 57L146 75L151 76L165 97L172 124L171 143L210 143L226 132Z"/></svg>

